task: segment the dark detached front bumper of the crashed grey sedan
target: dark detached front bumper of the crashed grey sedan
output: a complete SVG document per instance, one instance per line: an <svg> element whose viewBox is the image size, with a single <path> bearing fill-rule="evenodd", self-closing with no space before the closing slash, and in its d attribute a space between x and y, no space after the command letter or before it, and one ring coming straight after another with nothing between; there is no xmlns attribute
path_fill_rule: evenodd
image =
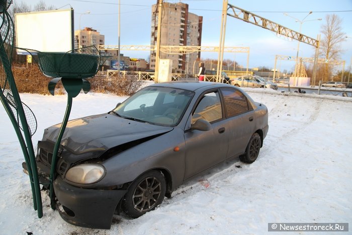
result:
<svg viewBox="0 0 352 235"><path fill-rule="evenodd" d="M57 208L66 222L90 228L110 229L112 218L126 190L78 188L60 177L54 181Z"/></svg>

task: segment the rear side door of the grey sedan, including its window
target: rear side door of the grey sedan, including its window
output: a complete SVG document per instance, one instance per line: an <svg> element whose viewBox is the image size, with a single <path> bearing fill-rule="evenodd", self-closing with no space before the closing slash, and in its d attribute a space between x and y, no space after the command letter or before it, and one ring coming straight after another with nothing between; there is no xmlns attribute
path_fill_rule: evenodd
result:
<svg viewBox="0 0 352 235"><path fill-rule="evenodd" d="M225 113L228 121L229 146L227 158L245 151L249 138L255 131L254 111L242 92L222 88Z"/></svg>

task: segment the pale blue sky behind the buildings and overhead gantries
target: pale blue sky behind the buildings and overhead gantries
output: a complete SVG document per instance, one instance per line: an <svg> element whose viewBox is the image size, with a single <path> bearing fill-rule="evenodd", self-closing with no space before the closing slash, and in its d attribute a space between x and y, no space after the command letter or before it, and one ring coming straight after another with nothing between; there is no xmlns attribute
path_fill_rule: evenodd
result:
<svg viewBox="0 0 352 235"><path fill-rule="evenodd" d="M15 0L17 1L17 0ZM20 2L20 1L18 1ZM39 0L26 1L35 5ZM177 3L179 1L166 1ZM202 46L219 46L222 1L220 0L185 0L191 13L203 16ZM106 45L118 45L118 1L112 0L46 0L48 6L54 9L74 10L74 29L79 25L92 27L105 35ZM156 0L121 0L120 1L120 43L121 45L150 45L151 6ZM346 40L341 43L343 53L341 60L345 61L345 70L350 67L352 59L352 1L351 0L229 0L229 4L252 12L260 17L267 18L295 31L299 31L300 23L309 12L313 12L302 23L301 33L312 38L320 34L321 25L326 23L327 14L336 14L341 20L342 31ZM84 14L86 12L90 14ZM285 16L287 13L289 16ZM84 15L82 15L84 14ZM294 19L296 18L296 19ZM321 18L321 21L316 19ZM266 66L274 68L275 55L296 56L298 42L277 36L274 32L262 29L233 17L227 17L225 46L249 47L249 67ZM147 51L121 51L126 56L148 59ZM299 56L313 57L315 48L300 43ZM205 53L202 59L217 59L217 53ZM246 53L225 53L224 59L236 60L240 65L246 66ZM294 61L279 60L277 68L293 70ZM342 66L339 70L342 69Z"/></svg>

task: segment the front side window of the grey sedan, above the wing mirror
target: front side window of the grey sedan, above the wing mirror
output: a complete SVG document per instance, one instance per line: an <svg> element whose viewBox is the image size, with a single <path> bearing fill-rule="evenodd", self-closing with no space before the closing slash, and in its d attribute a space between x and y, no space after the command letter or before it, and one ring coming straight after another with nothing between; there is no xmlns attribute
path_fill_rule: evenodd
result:
<svg viewBox="0 0 352 235"><path fill-rule="evenodd" d="M218 92L205 94L197 105L192 116L192 123L198 119L205 119L208 122L214 122L222 119L222 108Z"/></svg>

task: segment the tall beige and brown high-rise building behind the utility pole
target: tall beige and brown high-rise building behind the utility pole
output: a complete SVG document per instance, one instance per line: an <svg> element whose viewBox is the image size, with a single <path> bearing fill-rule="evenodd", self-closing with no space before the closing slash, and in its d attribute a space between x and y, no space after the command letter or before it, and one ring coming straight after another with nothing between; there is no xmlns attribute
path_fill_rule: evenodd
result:
<svg viewBox="0 0 352 235"><path fill-rule="evenodd" d="M161 1L161 0L159 0ZM156 45L158 30L158 4L152 6L151 12L151 45ZM163 3L161 19L160 45L169 46L200 46L202 41L203 17L188 11L188 4ZM156 51L150 52L150 69L155 69ZM200 52L188 54L170 54L160 51L160 59L172 60L172 72L193 74L198 73L197 58Z"/></svg>

